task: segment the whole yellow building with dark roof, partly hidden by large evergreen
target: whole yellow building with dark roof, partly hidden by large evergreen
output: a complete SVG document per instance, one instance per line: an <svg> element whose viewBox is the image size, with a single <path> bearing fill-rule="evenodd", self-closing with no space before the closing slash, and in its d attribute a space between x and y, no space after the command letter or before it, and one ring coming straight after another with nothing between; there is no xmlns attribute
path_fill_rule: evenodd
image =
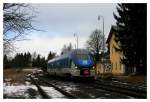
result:
<svg viewBox="0 0 150 102"><path fill-rule="evenodd" d="M112 74L113 75L123 75L126 74L126 67L125 65L121 62L121 59L123 59L123 54L121 51L117 50L119 49L119 44L120 42L115 41L115 33L116 33L117 27L112 26L110 33L108 35L106 44L109 49L110 53L110 62L112 66Z"/></svg>

